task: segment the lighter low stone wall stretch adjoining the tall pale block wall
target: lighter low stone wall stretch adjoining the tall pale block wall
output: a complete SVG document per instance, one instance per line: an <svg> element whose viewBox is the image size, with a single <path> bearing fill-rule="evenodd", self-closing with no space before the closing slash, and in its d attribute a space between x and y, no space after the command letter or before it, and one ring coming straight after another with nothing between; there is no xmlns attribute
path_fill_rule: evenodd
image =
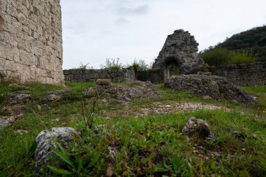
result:
<svg viewBox="0 0 266 177"><path fill-rule="evenodd" d="M136 80L134 69L69 69L64 70L64 78L71 82L90 82L98 78L109 78L112 82L132 82Z"/></svg>

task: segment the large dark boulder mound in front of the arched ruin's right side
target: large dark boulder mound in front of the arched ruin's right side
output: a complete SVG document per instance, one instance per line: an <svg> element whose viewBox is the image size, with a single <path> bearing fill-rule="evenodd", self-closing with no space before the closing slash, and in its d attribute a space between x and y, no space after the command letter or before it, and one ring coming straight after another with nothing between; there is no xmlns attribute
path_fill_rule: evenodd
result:
<svg viewBox="0 0 266 177"><path fill-rule="evenodd" d="M177 91L190 91L200 97L209 96L218 101L223 99L236 100L243 104L255 104L257 102L244 90L219 76L201 74L172 76L167 79L165 86Z"/></svg>

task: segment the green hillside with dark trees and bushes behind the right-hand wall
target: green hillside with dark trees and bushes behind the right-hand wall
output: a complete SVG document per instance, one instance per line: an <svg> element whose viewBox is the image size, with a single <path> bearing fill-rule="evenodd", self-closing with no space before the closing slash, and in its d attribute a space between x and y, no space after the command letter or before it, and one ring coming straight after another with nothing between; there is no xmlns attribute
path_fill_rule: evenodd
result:
<svg viewBox="0 0 266 177"><path fill-rule="evenodd" d="M266 62L266 26L234 34L200 56L210 66Z"/></svg>

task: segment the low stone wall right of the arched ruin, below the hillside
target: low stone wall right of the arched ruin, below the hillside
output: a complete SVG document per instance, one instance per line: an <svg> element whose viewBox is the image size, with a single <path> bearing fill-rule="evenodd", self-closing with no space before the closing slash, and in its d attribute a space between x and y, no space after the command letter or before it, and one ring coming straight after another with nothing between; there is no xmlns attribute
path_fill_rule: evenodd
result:
<svg viewBox="0 0 266 177"><path fill-rule="evenodd" d="M212 75L227 78L235 85L266 85L266 62L211 66L207 70Z"/></svg>

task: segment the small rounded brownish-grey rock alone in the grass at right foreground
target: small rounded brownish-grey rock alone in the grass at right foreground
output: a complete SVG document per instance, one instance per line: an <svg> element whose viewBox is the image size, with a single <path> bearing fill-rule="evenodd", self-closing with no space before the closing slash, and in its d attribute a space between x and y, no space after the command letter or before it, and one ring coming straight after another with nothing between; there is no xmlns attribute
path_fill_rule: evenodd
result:
<svg viewBox="0 0 266 177"><path fill-rule="evenodd" d="M182 133L188 137L206 139L211 136L209 125L202 119L190 118L182 129Z"/></svg>

